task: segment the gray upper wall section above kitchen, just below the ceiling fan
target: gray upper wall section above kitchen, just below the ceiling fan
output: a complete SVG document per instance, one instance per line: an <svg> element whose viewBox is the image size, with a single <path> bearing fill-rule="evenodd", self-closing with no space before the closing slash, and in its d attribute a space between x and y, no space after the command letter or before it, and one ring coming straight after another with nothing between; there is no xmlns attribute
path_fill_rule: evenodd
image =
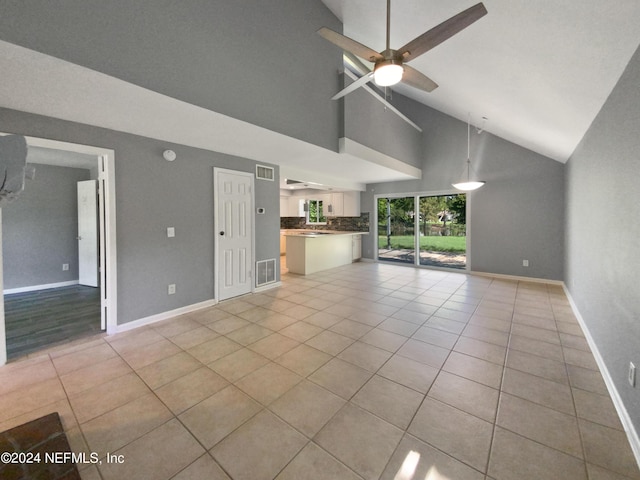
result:
<svg viewBox="0 0 640 480"><path fill-rule="evenodd" d="M345 85L349 83L351 80L347 79ZM386 108L364 88L351 92L342 102L342 136L411 166L422 166L422 132Z"/></svg>

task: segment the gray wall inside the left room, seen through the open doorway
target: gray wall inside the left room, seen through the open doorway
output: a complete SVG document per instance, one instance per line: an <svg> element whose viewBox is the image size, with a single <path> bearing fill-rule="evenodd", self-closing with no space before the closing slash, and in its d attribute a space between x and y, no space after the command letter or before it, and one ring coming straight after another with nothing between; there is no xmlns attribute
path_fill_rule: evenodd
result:
<svg viewBox="0 0 640 480"><path fill-rule="evenodd" d="M4 288L78 280L77 182L81 168L35 165L18 199L2 208ZM62 264L69 270L63 271Z"/></svg>

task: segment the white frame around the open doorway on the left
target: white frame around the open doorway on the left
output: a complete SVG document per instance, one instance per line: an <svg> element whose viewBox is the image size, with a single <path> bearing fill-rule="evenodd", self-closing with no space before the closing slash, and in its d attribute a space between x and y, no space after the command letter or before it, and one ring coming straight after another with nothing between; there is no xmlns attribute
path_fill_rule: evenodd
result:
<svg viewBox="0 0 640 480"><path fill-rule="evenodd" d="M18 135L20 135L18 133ZM27 145L96 157L100 191L100 308L102 329L116 333L118 325L115 151L91 145L25 136ZM1 210L1 209L0 209ZM1 218L1 216L0 216ZM2 273L2 223L0 223L0 274ZM3 290L0 275L0 290ZM7 362L4 295L0 298L0 365Z"/></svg>

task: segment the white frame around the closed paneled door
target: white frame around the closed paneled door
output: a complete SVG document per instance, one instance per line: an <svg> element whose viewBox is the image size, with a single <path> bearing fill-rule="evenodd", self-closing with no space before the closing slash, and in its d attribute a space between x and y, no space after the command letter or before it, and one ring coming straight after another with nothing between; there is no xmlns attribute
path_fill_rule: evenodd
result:
<svg viewBox="0 0 640 480"><path fill-rule="evenodd" d="M231 170L228 168L213 167L213 299L217 302L220 301L220 262L218 262L220 253L220 239L218 232L220 231L220 225L218 224L218 176L220 173L229 173L233 175L242 175L251 180L251 266L249 275L251 278L251 289L249 293L255 292L255 261L256 261L256 216L255 216L255 175L252 172L244 172L241 170Z"/></svg>

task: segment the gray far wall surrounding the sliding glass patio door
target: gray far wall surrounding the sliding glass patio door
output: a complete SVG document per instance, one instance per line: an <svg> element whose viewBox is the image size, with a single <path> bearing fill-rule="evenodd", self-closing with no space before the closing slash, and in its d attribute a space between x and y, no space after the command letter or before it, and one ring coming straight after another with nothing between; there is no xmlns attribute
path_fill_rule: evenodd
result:
<svg viewBox="0 0 640 480"><path fill-rule="evenodd" d="M467 158L467 124L396 95L396 104L423 130L422 179L368 185L374 195L453 191ZM470 266L478 272L562 280L564 165L499 137L472 129L472 166L487 184L469 194ZM373 217L372 217L373 222ZM375 226L372 224L372 228ZM363 237L373 258L374 236ZM529 267L522 260L529 260Z"/></svg>

